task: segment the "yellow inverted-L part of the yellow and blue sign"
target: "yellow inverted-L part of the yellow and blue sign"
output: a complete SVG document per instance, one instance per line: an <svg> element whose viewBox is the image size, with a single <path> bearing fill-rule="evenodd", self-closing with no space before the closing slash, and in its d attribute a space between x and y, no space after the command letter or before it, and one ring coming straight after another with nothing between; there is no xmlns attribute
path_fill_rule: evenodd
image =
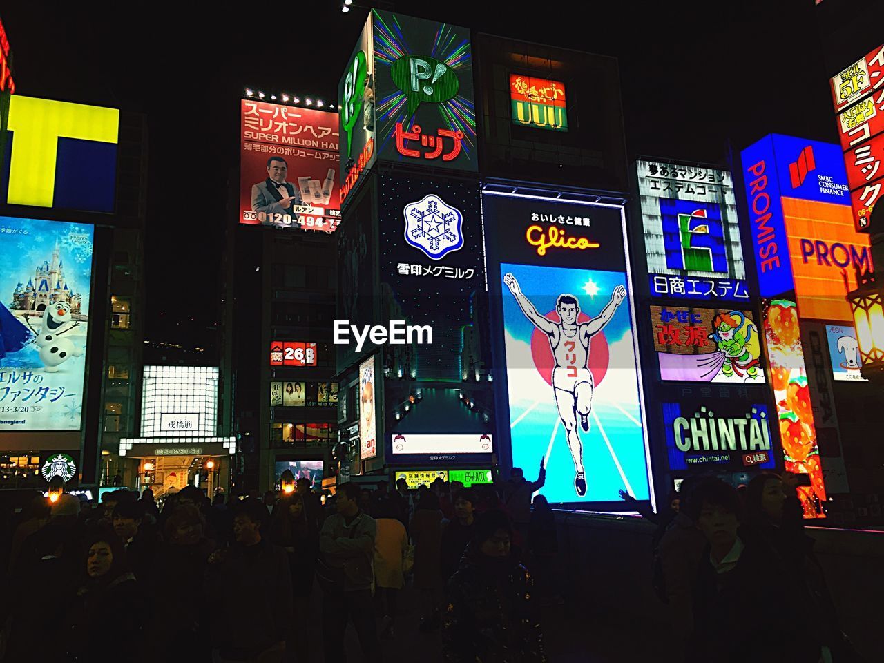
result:
<svg viewBox="0 0 884 663"><path fill-rule="evenodd" d="M13 132L6 202L52 207L59 138L119 140L119 110L11 95Z"/></svg>

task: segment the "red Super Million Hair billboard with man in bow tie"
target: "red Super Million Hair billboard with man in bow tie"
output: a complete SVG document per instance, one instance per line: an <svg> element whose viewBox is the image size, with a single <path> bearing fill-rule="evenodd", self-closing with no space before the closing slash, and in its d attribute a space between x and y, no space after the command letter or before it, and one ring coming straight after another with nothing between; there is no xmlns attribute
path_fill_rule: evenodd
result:
<svg viewBox="0 0 884 663"><path fill-rule="evenodd" d="M338 133L338 113L243 99L240 224L337 228Z"/></svg>

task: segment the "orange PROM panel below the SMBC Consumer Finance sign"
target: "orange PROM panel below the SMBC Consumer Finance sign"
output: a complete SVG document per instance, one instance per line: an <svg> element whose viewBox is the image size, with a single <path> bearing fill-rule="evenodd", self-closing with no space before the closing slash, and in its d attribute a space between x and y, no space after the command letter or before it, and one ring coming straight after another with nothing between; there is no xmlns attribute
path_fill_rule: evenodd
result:
<svg viewBox="0 0 884 663"><path fill-rule="evenodd" d="M857 267L872 270L869 236L857 232L850 206L783 196L789 258L803 318L848 322L847 293Z"/></svg>

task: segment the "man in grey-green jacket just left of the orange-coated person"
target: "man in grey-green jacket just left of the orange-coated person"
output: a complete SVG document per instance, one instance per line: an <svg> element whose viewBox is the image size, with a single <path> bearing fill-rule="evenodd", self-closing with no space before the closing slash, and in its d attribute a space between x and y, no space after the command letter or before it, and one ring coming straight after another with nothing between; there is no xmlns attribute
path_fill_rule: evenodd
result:
<svg viewBox="0 0 884 663"><path fill-rule="evenodd" d="M380 663L375 613L371 602L377 523L359 508L361 490L343 484L335 493L336 514L325 519L319 537L323 560L318 574L324 583L323 630L326 663L343 663L344 632L353 621L362 656L367 663ZM342 583L329 583L333 569L343 569ZM323 578L326 578L324 581Z"/></svg>

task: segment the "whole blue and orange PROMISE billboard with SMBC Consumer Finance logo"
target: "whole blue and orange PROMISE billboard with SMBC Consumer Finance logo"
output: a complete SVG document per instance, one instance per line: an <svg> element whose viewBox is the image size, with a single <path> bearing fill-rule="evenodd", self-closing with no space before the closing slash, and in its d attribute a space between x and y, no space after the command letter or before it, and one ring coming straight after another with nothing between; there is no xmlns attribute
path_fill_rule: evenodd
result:
<svg viewBox="0 0 884 663"><path fill-rule="evenodd" d="M772 134L742 161L761 295L794 290L802 317L850 320L856 270L873 265L852 221L841 149Z"/></svg>

